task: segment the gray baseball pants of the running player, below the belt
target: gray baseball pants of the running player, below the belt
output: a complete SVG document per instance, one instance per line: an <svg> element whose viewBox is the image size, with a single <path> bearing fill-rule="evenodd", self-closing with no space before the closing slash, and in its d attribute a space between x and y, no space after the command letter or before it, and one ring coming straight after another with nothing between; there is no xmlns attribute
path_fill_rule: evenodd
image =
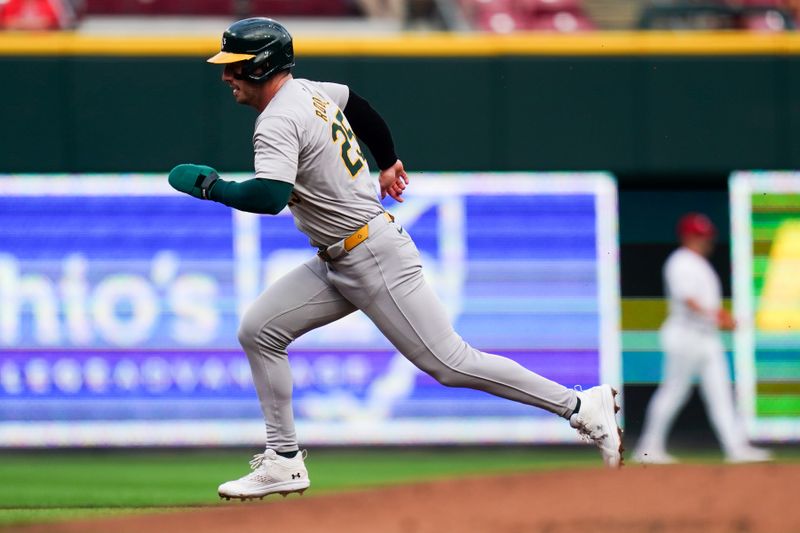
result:
<svg viewBox="0 0 800 533"><path fill-rule="evenodd" d="M298 266L268 287L242 319L239 342L250 361L269 448L298 447L287 346L357 309L443 385L486 391L565 418L575 408L574 390L464 342L423 277L416 245L381 215L370 221L367 240L350 253Z"/></svg>

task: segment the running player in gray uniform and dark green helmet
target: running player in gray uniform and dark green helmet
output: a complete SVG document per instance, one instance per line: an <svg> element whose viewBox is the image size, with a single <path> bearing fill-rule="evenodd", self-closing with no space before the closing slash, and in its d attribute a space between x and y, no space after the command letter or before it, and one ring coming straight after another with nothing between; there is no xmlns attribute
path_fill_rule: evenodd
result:
<svg viewBox="0 0 800 533"><path fill-rule="evenodd" d="M418 368L451 387L469 387L539 407L569 421L596 444L605 463L622 463L622 434L609 385L575 391L516 362L480 352L456 334L422 274L414 242L378 199L359 141L381 171L381 198L398 202L409 182L384 120L345 85L292 76L292 37L267 18L235 22L208 60L254 107L255 177L236 183L207 166L182 164L169 175L179 191L243 211L277 214L288 206L319 249L268 287L242 317L238 337L250 362L266 421L267 447L251 472L223 483L224 498L303 492L309 487L292 414L288 345L356 310L364 312Z"/></svg>

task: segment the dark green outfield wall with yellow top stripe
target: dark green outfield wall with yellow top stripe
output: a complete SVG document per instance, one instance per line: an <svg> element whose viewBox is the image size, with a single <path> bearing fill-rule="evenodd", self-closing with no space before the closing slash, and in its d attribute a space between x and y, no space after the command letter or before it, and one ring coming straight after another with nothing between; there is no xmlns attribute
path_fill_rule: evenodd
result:
<svg viewBox="0 0 800 533"><path fill-rule="evenodd" d="M800 36L598 33L297 39L431 171L720 178L800 165ZM218 37L0 35L2 172L252 168L254 114L203 60ZM713 175L713 176L712 176Z"/></svg>

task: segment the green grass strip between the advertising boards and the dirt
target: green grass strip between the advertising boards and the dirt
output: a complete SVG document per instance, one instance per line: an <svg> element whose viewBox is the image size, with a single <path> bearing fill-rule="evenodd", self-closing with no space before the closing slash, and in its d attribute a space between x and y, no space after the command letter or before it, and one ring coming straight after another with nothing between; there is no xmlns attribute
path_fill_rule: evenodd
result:
<svg viewBox="0 0 800 533"><path fill-rule="evenodd" d="M78 450L0 452L0 527L164 508L220 505L219 483L247 472L250 450ZM678 456L714 463L719 452ZM800 462L800 449L778 459ZM304 497L444 477L563 468L599 468L591 447L322 449L306 464ZM230 503L228 503L230 505Z"/></svg>

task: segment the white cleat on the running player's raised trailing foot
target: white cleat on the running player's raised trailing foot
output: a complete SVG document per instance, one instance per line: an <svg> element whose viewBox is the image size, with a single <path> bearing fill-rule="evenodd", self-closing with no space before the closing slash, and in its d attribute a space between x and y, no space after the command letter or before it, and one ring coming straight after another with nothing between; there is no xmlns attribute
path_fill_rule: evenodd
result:
<svg viewBox="0 0 800 533"><path fill-rule="evenodd" d="M600 448L603 462L609 468L623 464L622 429L617 424L619 406L614 397L617 391L610 385L598 385L587 391L577 391L580 411L569 418L569 425L578 430L581 438Z"/></svg>

